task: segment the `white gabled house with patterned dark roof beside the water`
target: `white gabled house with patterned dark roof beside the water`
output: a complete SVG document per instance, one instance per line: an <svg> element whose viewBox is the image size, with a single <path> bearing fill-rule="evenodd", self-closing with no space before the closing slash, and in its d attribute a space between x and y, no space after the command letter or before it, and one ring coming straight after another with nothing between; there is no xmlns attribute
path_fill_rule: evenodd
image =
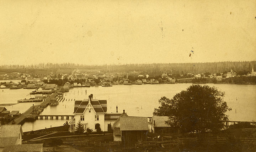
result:
<svg viewBox="0 0 256 152"><path fill-rule="evenodd" d="M75 126L81 121L84 129L93 129L96 131L95 125L100 124L102 131L111 131L114 122L122 113L107 113L107 100L97 100L89 95L87 100L75 101L74 114L75 117L69 122L70 132L75 131ZM85 131L86 132L86 131Z"/></svg>

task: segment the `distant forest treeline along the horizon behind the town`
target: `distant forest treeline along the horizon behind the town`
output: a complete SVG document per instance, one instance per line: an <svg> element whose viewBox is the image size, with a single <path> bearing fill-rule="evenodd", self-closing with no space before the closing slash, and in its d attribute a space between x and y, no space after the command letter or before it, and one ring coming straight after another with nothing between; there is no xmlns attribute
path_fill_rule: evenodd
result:
<svg viewBox="0 0 256 152"><path fill-rule="evenodd" d="M256 61L242 62L209 62L209 63L149 63L149 64L123 64L123 65L83 65L74 63L39 63L31 65L1 65L1 72L16 72L17 69L85 69L88 71L101 71L103 73L118 72L126 73L131 71L146 72L151 75L162 73L223 73L233 71L251 71L252 67L256 70ZM53 70L55 71L55 70Z"/></svg>

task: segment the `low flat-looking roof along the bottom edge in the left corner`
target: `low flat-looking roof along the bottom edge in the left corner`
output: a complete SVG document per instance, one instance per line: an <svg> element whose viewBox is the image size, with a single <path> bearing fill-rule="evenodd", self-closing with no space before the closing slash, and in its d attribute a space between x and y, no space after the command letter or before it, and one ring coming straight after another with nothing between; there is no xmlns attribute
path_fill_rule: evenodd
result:
<svg viewBox="0 0 256 152"><path fill-rule="evenodd" d="M43 143L6 146L2 152L41 152Z"/></svg>

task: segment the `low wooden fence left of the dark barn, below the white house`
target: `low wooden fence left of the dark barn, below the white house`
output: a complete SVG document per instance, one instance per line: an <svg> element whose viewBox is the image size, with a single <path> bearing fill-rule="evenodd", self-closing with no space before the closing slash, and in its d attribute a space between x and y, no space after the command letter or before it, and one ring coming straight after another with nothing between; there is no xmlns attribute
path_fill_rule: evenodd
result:
<svg viewBox="0 0 256 152"><path fill-rule="evenodd" d="M106 142L89 142L89 141L71 141L71 142L64 142L69 143L72 145L77 146L100 146L100 147L111 147L111 146L121 146L121 141L110 141L108 143Z"/></svg>

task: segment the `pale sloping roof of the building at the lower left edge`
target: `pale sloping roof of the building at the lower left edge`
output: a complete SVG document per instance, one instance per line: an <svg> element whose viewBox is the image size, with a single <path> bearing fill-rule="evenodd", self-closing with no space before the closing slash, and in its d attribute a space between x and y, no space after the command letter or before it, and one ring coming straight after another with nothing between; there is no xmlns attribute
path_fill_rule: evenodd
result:
<svg viewBox="0 0 256 152"><path fill-rule="evenodd" d="M18 134L23 131L21 125L1 125L0 126L0 137L18 137Z"/></svg>

